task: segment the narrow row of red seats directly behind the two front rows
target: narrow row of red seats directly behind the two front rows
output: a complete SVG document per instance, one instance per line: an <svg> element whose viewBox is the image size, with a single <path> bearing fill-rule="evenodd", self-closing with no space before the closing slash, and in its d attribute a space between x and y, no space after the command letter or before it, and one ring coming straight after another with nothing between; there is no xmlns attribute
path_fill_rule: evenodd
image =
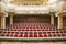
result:
<svg viewBox="0 0 66 44"><path fill-rule="evenodd" d="M54 29L7 29L7 31L59 31L59 30L54 30ZM63 31L63 30L61 30L61 31Z"/></svg>

